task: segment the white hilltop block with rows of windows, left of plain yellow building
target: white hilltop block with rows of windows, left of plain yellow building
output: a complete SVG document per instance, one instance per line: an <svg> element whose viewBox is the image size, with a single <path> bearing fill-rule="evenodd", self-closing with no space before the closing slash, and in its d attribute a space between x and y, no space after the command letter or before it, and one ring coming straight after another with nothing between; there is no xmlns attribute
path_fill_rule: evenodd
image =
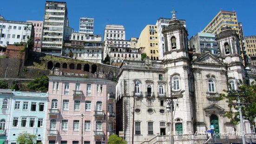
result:
<svg viewBox="0 0 256 144"><path fill-rule="evenodd" d="M125 27L123 25L106 25L103 40L108 39L125 40Z"/></svg>

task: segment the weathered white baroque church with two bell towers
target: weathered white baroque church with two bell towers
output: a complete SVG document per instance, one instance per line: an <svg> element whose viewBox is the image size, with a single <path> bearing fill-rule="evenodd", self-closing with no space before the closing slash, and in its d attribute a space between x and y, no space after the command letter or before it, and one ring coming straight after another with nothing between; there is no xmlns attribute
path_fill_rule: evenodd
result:
<svg viewBox="0 0 256 144"><path fill-rule="evenodd" d="M117 131L124 131L124 138L131 144L164 144L171 131L171 112L168 100L173 101L172 118L174 143L203 143L203 134L214 125L214 132L240 132L240 124L230 123L223 117L229 111L225 100L218 100L219 93L231 84L237 89L239 80L252 82L256 78L254 67L242 63L239 37L228 26L216 35L218 55L197 47L189 48L188 32L176 19L163 31L164 60L124 60L118 72ZM244 121L245 133L251 133L250 124ZM224 138L224 136L218 136ZM228 136L236 139L236 135ZM158 143L159 142L159 143Z"/></svg>

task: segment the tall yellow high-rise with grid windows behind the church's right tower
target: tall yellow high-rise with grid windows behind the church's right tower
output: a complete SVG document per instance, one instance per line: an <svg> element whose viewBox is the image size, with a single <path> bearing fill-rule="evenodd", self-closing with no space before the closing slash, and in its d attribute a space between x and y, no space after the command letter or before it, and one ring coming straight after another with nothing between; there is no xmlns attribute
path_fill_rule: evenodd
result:
<svg viewBox="0 0 256 144"><path fill-rule="evenodd" d="M225 22L226 21L226 22ZM237 22L236 12L219 11L217 15L210 21L210 23L204 27L202 33L214 33L219 34L221 28L224 26L230 26L239 35L239 39L243 39L243 33L239 33L240 29L243 30L242 24ZM243 58L243 64L246 63L246 52L243 49L242 41L240 40L241 56Z"/></svg>

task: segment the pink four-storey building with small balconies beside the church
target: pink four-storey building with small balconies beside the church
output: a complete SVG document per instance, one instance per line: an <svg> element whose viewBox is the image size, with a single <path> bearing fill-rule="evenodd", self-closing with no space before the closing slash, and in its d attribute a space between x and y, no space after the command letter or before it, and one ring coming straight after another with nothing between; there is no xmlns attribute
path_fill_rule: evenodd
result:
<svg viewBox="0 0 256 144"><path fill-rule="evenodd" d="M45 144L107 144L116 127L116 83L99 78L48 77Z"/></svg>

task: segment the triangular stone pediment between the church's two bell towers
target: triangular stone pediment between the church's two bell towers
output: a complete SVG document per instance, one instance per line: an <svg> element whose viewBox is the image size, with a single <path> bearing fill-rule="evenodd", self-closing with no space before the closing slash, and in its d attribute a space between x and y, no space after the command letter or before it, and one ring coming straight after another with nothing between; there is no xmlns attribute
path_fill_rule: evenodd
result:
<svg viewBox="0 0 256 144"><path fill-rule="evenodd" d="M217 57L212 55L210 52L201 54L201 56L199 56L197 59L193 60L193 63L224 65L222 61L217 59Z"/></svg>

